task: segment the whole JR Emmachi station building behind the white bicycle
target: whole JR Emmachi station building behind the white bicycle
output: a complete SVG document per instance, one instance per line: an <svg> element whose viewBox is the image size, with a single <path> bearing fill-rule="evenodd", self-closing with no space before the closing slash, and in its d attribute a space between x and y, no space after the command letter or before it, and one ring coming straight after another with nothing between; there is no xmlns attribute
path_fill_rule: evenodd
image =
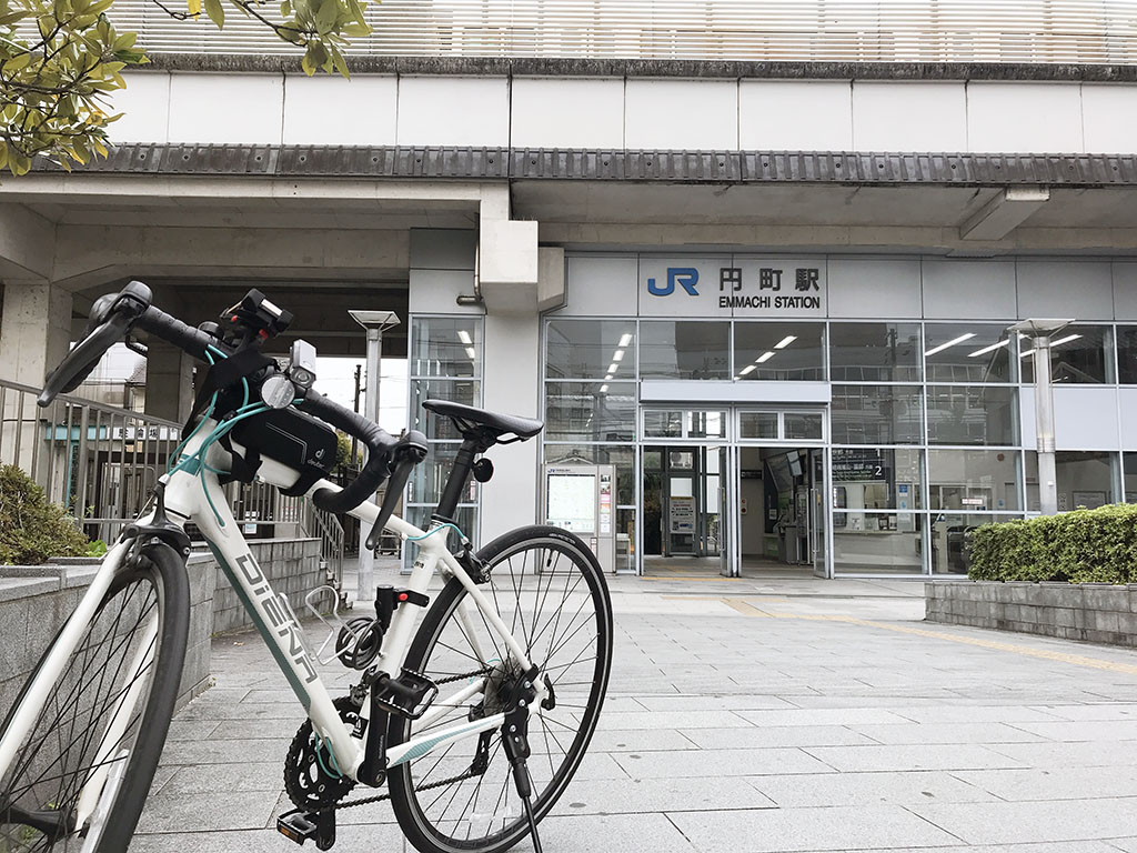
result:
<svg viewBox="0 0 1137 853"><path fill-rule="evenodd" d="M414 521L455 449L421 403L448 397L547 424L472 488L483 541L549 519L612 571L949 574L976 525L1038 511L1011 326L1062 318L1059 508L1137 499L1122 19L897 11L849 47L596 13L574 41L557 3L533 27L505 6L383 3L350 82L143 20L111 157L0 184L0 379L38 383L131 278L194 321L259 287L322 355L362 353L348 308L395 309L433 448ZM176 420L192 365L151 351L148 411Z"/></svg>

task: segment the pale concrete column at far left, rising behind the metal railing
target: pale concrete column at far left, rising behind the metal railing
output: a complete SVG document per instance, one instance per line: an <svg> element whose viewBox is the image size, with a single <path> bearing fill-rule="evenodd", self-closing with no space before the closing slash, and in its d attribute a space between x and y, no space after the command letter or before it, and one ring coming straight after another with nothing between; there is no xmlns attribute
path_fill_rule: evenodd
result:
<svg viewBox="0 0 1137 853"><path fill-rule="evenodd" d="M72 295L43 281L6 280L0 378L41 388L70 346Z"/></svg>

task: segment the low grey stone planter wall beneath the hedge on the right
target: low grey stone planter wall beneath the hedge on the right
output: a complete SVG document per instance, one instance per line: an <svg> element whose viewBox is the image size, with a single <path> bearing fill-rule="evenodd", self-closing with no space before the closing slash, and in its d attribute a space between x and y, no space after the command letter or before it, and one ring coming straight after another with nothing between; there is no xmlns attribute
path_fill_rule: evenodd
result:
<svg viewBox="0 0 1137 853"><path fill-rule="evenodd" d="M924 602L929 622L1137 647L1137 586L930 581Z"/></svg>

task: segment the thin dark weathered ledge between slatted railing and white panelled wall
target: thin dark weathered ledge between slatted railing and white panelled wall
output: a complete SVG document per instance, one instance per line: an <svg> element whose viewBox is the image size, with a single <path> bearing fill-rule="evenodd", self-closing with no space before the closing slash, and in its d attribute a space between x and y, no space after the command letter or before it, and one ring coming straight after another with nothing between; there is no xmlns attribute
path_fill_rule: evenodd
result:
<svg viewBox="0 0 1137 853"><path fill-rule="evenodd" d="M1134 83L1137 66L1049 63L777 63L562 57L350 56L355 74L442 76L681 77L700 80L1051 81ZM148 72L300 72L298 53L151 53Z"/></svg>

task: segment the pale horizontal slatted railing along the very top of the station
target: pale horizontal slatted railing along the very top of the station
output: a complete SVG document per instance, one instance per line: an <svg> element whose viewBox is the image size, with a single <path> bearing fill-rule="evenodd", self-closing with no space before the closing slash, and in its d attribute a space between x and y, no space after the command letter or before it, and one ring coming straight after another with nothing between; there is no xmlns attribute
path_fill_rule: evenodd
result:
<svg viewBox="0 0 1137 853"><path fill-rule="evenodd" d="M183 6L183 2L175 3ZM1134 0L383 0L354 55L837 63L1137 60ZM218 32L153 0L115 24L153 52L288 55L250 18Z"/></svg>

